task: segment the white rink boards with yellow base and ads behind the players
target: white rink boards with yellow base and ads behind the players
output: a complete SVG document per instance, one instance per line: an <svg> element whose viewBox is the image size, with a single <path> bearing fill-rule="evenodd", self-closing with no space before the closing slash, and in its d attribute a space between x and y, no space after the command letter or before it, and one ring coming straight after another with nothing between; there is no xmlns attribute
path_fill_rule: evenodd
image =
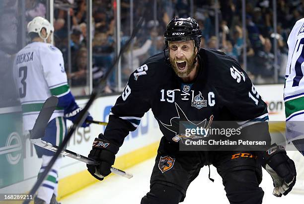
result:
<svg viewBox="0 0 304 204"><path fill-rule="evenodd" d="M268 103L270 120L285 120L283 87L284 85L256 86L262 99ZM115 95L98 98L90 108L90 114L94 120L108 121L110 108L116 102L117 97L118 96ZM83 106L87 99L76 101L80 106ZM1 132L1 138L6 138L6 141L0 141L2 147L0 148L0 159L1 164L8 167L8 171L0 171L0 193L25 193L30 190L36 181L41 160L37 158L35 149L31 147L29 140L23 141L20 126L20 108L6 108L5 110L6 112L4 110L0 112L0 119L1 117L7 118L7 116L10 116L12 117L11 121L14 121L15 125L8 128L6 132ZM71 125L71 123L68 122L68 126L69 125ZM17 129L17 131L9 132L9 130L13 128ZM91 149L94 138L97 137L100 132L103 132L104 128L104 126L97 124L92 124L85 129L78 128L69 141L67 149L86 156ZM14 146L7 143L9 136L10 138L15 138L16 142L13 143ZM155 156L160 137L161 133L158 129L158 124L150 110L142 118L137 130L131 132L126 137L123 146L117 154L114 166L116 168L126 169ZM10 141L13 141L13 139L10 139ZM20 144L18 142L20 142ZM9 146L15 148L9 148ZM85 164L67 157L63 159L59 177L60 197L72 194L97 181L87 173Z"/></svg>

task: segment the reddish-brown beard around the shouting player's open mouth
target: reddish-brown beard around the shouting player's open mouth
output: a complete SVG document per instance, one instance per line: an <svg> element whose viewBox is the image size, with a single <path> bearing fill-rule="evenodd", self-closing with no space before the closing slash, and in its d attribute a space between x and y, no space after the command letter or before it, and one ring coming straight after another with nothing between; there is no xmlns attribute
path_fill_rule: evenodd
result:
<svg viewBox="0 0 304 204"><path fill-rule="evenodd" d="M172 59L171 57L169 57L171 66L172 66L175 74L180 78L185 78L185 77L189 76L189 74L195 68L195 63L194 63L195 58L196 58L195 49L189 59L187 59L186 57L183 57L181 59L177 59L177 58ZM178 66L176 64L177 60L186 61L186 67L183 70L180 70L178 68Z"/></svg>

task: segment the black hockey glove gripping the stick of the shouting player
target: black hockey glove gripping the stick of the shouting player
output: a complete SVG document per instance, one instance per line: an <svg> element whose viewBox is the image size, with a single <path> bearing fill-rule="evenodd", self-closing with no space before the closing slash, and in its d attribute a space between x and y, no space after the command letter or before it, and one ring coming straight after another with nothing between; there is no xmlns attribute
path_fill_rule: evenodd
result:
<svg viewBox="0 0 304 204"><path fill-rule="evenodd" d="M111 166L115 161L115 154L118 152L118 146L104 139L103 134L95 138L92 150L88 158L99 161L99 165L87 164L88 172L96 179L102 181L104 177L111 173Z"/></svg>

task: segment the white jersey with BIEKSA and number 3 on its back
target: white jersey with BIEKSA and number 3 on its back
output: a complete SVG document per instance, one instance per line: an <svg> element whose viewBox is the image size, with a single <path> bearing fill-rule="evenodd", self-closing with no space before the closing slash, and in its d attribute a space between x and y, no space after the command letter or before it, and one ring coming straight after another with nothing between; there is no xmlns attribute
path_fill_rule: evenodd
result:
<svg viewBox="0 0 304 204"><path fill-rule="evenodd" d="M14 72L23 130L31 130L47 98L70 92L62 52L51 44L32 42L16 54ZM50 120L63 115L64 109L57 108Z"/></svg>

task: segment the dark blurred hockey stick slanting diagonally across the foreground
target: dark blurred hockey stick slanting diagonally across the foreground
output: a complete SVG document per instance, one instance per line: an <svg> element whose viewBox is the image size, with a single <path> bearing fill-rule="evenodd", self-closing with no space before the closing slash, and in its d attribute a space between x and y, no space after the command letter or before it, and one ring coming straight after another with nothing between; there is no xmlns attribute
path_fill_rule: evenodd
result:
<svg viewBox="0 0 304 204"><path fill-rule="evenodd" d="M133 32L132 32L129 40L127 40L127 42L125 43L125 45L121 48L118 56L115 58L113 66L110 69L107 70L107 72L105 73L104 77L100 80L99 85L96 88L93 89L92 94L91 94L88 102L86 103L86 105L84 106L84 108L78 113L78 117L75 119L74 124L72 125L70 131L65 136L65 138L64 138L63 142L61 143L61 145L59 145L58 151L52 157L52 159L49 162L49 164L45 167L45 170L41 173L41 176L39 177L39 179L37 180L37 182L35 183L35 185L33 186L33 188L30 190L30 192L29 192L28 195L34 195L37 192L39 186L42 184L43 180L45 179L45 177L47 176L47 174L51 170L51 168L54 165L56 159L59 157L60 153L63 151L64 147L67 145L68 141L72 137L73 133L75 132L75 130L77 128L77 126L79 126L79 124L82 124L84 122L84 119L86 118L86 116L88 114L87 111L88 111L89 107L92 105L92 103L94 102L94 100L99 96L100 92L105 87L106 81L108 79L108 76L112 73L112 71L114 70L114 68L118 64L119 58L122 55L122 53L127 49L127 47L129 46L129 44L131 43L131 41L133 40L133 38L138 33L139 29L141 28L141 25L142 25L143 21L144 21L144 18L141 17L140 20L139 20L139 22L137 23L136 27L134 28L134 30L133 30ZM30 202L30 200L25 200L23 202L23 204L28 204L29 202Z"/></svg>

